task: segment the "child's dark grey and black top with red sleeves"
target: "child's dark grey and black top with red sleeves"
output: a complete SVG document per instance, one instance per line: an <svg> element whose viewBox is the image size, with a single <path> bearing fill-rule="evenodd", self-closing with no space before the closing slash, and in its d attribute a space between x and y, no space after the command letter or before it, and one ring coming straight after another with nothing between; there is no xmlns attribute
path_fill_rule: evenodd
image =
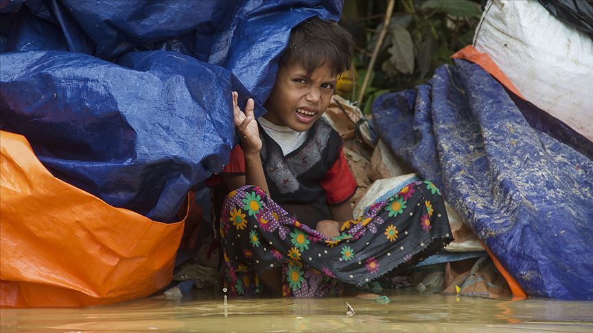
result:
<svg viewBox="0 0 593 333"><path fill-rule="evenodd" d="M286 156L261 124L259 136L270 195L301 223L314 229L318 221L331 219L328 205L342 204L356 192L356 180L342 149L344 142L325 119L316 121L303 145ZM243 175L245 158L240 146L231 151L230 160L220 174ZM293 205L294 210L289 208Z"/></svg>

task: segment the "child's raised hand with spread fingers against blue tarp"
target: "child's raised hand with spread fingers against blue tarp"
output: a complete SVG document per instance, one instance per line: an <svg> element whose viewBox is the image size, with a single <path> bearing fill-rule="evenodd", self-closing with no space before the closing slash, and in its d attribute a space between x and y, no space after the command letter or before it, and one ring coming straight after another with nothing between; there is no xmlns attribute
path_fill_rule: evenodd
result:
<svg viewBox="0 0 593 333"><path fill-rule="evenodd" d="M241 137L241 147L245 153L259 153L261 150L261 138L255 121L253 99L248 99L245 105L245 113L237 105L239 93L233 91L233 115L235 116L235 127Z"/></svg>

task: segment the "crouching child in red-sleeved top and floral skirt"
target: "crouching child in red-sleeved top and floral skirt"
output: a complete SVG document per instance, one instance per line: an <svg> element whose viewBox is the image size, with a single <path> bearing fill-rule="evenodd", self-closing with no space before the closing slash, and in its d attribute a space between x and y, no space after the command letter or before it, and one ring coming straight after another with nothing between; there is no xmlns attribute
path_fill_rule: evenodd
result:
<svg viewBox="0 0 593 333"><path fill-rule="evenodd" d="M241 144L221 173L232 191L220 220L233 295L259 293L260 280L285 296L339 294L343 282L364 284L451 240L428 181L352 219L356 181L339 134L321 119L352 54L344 29L310 18L290 34L264 116L255 120L253 99L243 113L233 92Z"/></svg>

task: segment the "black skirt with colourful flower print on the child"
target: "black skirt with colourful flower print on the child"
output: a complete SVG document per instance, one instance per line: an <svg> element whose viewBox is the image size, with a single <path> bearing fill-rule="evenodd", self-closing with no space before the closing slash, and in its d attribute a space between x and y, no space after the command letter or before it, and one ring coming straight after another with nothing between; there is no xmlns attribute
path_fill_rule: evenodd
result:
<svg viewBox="0 0 593 333"><path fill-rule="evenodd" d="M299 223L260 188L243 186L226 197L220 219L225 286L230 295L257 295L257 274L282 271L282 295L339 295L434 254L452 240L439 189L428 180L346 221L327 238ZM393 273L393 272L392 272Z"/></svg>

